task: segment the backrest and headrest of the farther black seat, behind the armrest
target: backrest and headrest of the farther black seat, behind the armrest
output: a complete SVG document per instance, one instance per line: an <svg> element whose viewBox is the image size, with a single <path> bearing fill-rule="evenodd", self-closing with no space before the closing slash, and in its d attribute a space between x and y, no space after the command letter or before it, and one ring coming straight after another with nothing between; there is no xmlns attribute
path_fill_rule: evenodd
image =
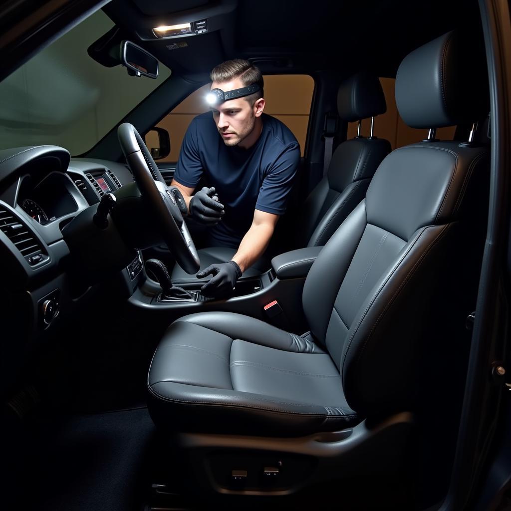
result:
<svg viewBox="0 0 511 511"><path fill-rule="evenodd" d="M358 73L339 87L337 110L346 122L373 117L385 113L386 109L380 80L374 75ZM374 136L357 136L337 146L327 173L305 201L298 246L327 243L365 197L371 178L389 152L390 143Z"/></svg>

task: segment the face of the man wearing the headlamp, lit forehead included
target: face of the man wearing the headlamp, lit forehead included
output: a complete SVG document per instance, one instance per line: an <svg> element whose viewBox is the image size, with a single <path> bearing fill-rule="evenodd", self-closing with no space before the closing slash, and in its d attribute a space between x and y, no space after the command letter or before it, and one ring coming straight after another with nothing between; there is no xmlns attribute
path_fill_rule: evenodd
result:
<svg viewBox="0 0 511 511"><path fill-rule="evenodd" d="M244 86L239 78L230 82L213 82L211 84L212 89L221 89L224 92ZM246 98L225 101L220 105L212 106L211 111L218 132L226 146L236 146L242 142L252 132L255 118L261 115L258 102L252 106Z"/></svg>

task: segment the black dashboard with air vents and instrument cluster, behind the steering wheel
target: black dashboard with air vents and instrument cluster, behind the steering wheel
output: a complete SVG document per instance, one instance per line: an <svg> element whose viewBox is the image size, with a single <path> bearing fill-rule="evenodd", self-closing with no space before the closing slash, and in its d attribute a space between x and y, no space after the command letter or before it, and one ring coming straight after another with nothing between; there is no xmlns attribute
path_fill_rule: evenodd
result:
<svg viewBox="0 0 511 511"><path fill-rule="evenodd" d="M57 146L0 151L0 310L4 339L9 339L12 323L14 343L20 338L38 342L51 335L59 317L80 307L91 286L72 282L69 270L76 273L79 268L62 231L80 213L98 204L105 193L132 181L123 164L71 158ZM141 260L140 253L135 259ZM132 289L136 285L133 268L140 271L141 267L134 263L122 272ZM2 372L4 380L10 368Z"/></svg>

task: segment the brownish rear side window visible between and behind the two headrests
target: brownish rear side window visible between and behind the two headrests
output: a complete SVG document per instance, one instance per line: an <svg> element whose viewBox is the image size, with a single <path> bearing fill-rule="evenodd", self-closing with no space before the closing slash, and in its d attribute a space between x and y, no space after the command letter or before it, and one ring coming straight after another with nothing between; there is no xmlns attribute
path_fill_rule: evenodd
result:
<svg viewBox="0 0 511 511"><path fill-rule="evenodd" d="M392 150L398 147L403 147L408 144L420 142L428 137L427 129L414 129L407 126L401 116L399 115L396 106L396 95L394 87L396 80L394 78L380 78L383 92L385 94L385 101L387 103L387 111L375 117L374 134L380 138L386 138ZM357 135L358 122L348 124L347 138L353 138ZM371 120L364 119L362 121L361 134L369 136L371 131ZM452 140L456 126L447 128L438 128L436 130L436 137L440 140Z"/></svg>

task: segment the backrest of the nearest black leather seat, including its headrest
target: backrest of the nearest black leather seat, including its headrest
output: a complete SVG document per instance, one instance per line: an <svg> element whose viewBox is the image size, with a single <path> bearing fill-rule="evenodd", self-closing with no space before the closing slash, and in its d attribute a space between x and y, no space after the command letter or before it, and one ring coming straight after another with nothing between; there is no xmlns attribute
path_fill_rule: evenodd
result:
<svg viewBox="0 0 511 511"><path fill-rule="evenodd" d="M484 60L481 69L468 67L460 41L450 32L401 63L397 105L408 125L436 128L487 115ZM455 90L466 83L470 101ZM446 304L463 300L467 275L478 274L488 163L487 147L458 142L392 151L311 267L304 311L357 412L413 402L426 331L442 356L443 321L452 320ZM436 330L428 328L431 318Z"/></svg>

